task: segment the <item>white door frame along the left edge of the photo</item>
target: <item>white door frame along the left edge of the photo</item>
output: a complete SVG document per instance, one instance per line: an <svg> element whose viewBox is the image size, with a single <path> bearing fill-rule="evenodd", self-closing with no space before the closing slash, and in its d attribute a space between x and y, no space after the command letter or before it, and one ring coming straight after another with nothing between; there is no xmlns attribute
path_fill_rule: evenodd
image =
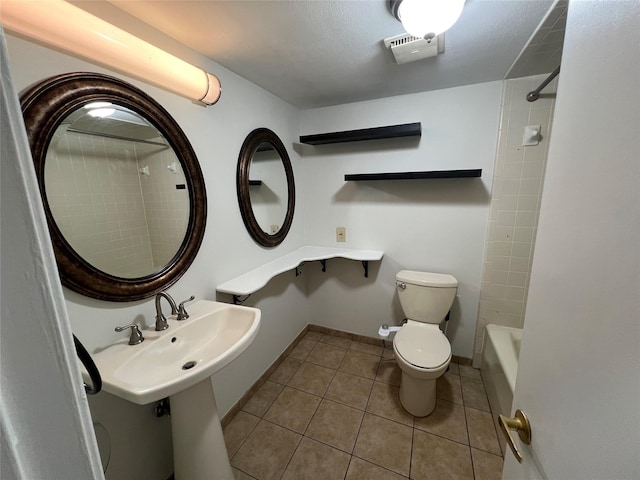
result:
<svg viewBox="0 0 640 480"><path fill-rule="evenodd" d="M0 478L103 479L0 28Z"/></svg>

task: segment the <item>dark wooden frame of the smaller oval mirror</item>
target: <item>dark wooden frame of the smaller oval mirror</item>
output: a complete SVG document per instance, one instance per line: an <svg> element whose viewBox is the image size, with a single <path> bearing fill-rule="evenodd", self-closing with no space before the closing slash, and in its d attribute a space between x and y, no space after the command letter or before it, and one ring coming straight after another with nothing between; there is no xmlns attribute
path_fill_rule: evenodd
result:
<svg viewBox="0 0 640 480"><path fill-rule="evenodd" d="M284 165L284 171L287 176L287 212L285 214L282 227L277 233L270 235L262 230L251 206L251 198L249 196L249 170L251 169L251 161L254 154L258 150L261 143L270 143L280 155L280 159ZM244 221L249 235L263 247L275 247L283 242L291 223L293 222L293 212L296 203L296 188L293 180L293 168L291 160L284 144L273 131L268 128L257 128L253 130L242 144L240 155L238 157L238 171L236 175L236 187L238 192L238 203L240 204L240 213Z"/></svg>

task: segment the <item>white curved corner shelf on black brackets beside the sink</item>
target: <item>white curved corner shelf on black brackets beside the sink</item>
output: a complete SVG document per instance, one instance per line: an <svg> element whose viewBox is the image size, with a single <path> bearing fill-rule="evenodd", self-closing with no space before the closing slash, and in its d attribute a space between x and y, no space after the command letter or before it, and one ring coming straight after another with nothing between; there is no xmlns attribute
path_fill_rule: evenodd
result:
<svg viewBox="0 0 640 480"><path fill-rule="evenodd" d="M216 290L233 295L234 302L238 303L238 297L257 292L276 275L288 270L297 269L303 262L323 262L331 258L346 258L361 261L364 266L365 277L367 277L369 272L368 262L382 260L383 255L383 252L377 250L304 246L269 263L265 263L239 277L221 283L216 287Z"/></svg>

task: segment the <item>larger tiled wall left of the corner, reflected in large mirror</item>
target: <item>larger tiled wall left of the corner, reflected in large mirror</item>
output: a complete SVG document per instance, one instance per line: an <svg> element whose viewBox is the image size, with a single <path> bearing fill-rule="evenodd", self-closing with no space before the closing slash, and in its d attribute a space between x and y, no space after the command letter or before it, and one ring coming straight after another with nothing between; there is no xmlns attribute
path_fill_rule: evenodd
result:
<svg viewBox="0 0 640 480"><path fill-rule="evenodd" d="M151 267L130 143L60 132L45 169L51 210L62 234L93 266L124 277L148 273Z"/></svg>

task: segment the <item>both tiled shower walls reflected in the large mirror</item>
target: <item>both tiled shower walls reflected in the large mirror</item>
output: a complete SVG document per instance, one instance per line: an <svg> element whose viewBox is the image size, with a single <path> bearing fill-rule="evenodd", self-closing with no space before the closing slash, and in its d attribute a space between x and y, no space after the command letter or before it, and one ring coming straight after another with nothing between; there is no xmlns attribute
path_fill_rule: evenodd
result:
<svg viewBox="0 0 640 480"><path fill-rule="evenodd" d="M65 239L93 266L115 276L148 275L166 264L188 220L187 190L176 190L185 183L182 169L179 163L176 174L167 168L177 162L171 149L59 133L47 154L45 182ZM150 175L139 172L144 166Z"/></svg>

